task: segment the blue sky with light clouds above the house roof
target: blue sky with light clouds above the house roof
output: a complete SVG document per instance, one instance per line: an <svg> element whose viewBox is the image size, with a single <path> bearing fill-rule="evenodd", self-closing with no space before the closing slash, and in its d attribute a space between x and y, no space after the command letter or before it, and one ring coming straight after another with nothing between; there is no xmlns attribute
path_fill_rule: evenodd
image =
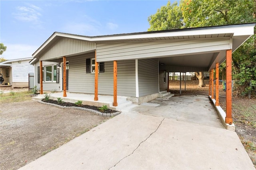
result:
<svg viewBox="0 0 256 170"><path fill-rule="evenodd" d="M145 32L148 17L167 2L0 0L0 42L7 46L0 57L31 57L54 32L84 36Z"/></svg>

